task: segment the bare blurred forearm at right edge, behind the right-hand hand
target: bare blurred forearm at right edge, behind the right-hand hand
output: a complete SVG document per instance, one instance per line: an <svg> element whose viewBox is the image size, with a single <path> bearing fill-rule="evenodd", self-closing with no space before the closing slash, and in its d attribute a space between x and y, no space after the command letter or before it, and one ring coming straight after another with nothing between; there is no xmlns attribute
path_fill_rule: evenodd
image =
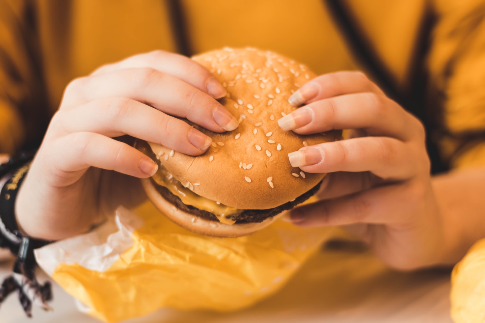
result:
<svg viewBox="0 0 485 323"><path fill-rule="evenodd" d="M442 263L455 264L485 238L485 167L435 176L432 185L443 219Z"/></svg>

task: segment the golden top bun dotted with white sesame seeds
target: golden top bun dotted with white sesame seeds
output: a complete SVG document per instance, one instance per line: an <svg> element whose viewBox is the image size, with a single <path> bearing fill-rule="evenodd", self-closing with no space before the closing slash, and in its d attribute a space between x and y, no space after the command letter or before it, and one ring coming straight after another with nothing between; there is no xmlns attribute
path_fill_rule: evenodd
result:
<svg viewBox="0 0 485 323"><path fill-rule="evenodd" d="M234 131L214 133L195 126L213 140L200 156L171 154L150 143L163 165L196 194L238 209L269 209L307 192L324 174L291 167L288 154L305 145L335 141L340 131L300 136L283 131L277 120L296 108L292 92L316 75L305 65L253 48L214 50L193 57L227 90L219 100L236 118Z"/></svg>

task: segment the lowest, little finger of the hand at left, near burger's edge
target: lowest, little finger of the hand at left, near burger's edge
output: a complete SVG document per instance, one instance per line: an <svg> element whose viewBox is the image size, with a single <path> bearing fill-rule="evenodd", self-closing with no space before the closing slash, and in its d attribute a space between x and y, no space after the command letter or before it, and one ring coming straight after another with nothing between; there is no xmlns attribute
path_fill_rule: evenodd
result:
<svg viewBox="0 0 485 323"><path fill-rule="evenodd" d="M50 146L48 162L62 172L63 186L75 183L91 166L147 178L158 165L126 143L89 132L77 132L58 139ZM67 183L66 183L67 182Z"/></svg>

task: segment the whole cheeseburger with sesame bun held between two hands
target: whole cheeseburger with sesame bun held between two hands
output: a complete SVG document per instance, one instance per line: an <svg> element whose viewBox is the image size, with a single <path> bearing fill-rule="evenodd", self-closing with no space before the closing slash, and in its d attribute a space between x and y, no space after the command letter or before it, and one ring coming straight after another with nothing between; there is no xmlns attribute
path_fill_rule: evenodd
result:
<svg viewBox="0 0 485 323"><path fill-rule="evenodd" d="M295 108L291 94L316 75L305 65L253 48L210 51L193 57L226 88L219 102L236 118L234 131L214 133L206 153L189 156L160 144L137 142L159 165L142 180L148 198L178 225L204 235L238 237L260 230L310 198L324 174L291 167L288 154L341 138L340 131L300 136L277 120Z"/></svg>

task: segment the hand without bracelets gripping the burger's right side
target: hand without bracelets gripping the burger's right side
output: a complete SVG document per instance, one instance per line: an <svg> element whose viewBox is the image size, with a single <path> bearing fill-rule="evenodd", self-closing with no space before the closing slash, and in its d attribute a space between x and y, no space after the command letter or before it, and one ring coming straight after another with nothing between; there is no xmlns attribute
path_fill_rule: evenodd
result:
<svg viewBox="0 0 485 323"><path fill-rule="evenodd" d="M306 105L278 121L283 130L353 129L353 138L289 154L293 167L328 173L321 201L292 210L291 222L346 226L396 269L440 263L443 224L420 121L361 72L316 77L289 101Z"/></svg>

